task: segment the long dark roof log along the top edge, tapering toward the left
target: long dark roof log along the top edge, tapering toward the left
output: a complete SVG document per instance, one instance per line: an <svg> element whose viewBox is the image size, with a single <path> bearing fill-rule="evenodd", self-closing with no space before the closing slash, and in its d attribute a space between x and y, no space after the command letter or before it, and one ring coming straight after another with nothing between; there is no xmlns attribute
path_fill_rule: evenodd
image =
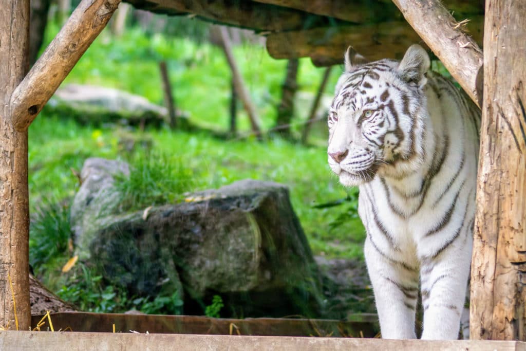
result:
<svg viewBox="0 0 526 351"><path fill-rule="evenodd" d="M260 4L248 0L127 0L137 8L157 13L188 13L219 24L255 29L287 31L328 25L326 17L292 8Z"/></svg>

